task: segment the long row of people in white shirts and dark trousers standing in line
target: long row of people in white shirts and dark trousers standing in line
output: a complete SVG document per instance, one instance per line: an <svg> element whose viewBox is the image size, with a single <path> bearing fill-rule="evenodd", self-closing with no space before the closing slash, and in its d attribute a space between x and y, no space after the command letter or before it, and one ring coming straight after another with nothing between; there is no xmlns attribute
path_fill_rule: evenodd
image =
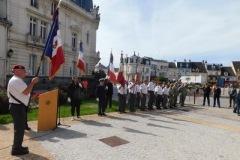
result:
<svg viewBox="0 0 240 160"><path fill-rule="evenodd" d="M184 106L187 95L186 84L165 84L161 82L144 80L143 83L136 82L134 79L127 85L117 85L119 98L119 113L124 113L128 97L128 106L130 112L135 112L135 106L141 111L153 110L153 106L157 109L166 109L168 107L177 107L177 99L179 96L180 106ZM128 95L129 94L129 95ZM147 95L149 99L146 107Z"/></svg>

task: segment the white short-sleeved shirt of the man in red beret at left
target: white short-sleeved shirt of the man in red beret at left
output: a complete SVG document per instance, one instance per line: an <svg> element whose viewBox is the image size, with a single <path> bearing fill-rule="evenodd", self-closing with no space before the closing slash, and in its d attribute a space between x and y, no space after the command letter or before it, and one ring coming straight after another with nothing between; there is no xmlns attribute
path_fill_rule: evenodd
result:
<svg viewBox="0 0 240 160"><path fill-rule="evenodd" d="M25 95L22 92L27 88L27 84L18 76L12 76L12 78L8 82L7 87L7 95L9 97L9 103L19 104L16 100L10 96L9 92L16 97L18 100L23 102L26 106L28 105L28 101L30 98L30 94Z"/></svg>

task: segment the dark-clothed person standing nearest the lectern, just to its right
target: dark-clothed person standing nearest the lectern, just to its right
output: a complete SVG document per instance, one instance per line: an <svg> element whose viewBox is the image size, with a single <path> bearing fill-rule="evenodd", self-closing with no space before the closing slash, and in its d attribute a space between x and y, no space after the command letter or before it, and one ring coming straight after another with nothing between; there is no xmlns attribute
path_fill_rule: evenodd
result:
<svg viewBox="0 0 240 160"><path fill-rule="evenodd" d="M80 105L81 105L81 90L82 84L79 82L76 75L73 76L72 82L68 85L68 102L71 105L72 121L74 120L74 112L76 109L77 118L80 118Z"/></svg>

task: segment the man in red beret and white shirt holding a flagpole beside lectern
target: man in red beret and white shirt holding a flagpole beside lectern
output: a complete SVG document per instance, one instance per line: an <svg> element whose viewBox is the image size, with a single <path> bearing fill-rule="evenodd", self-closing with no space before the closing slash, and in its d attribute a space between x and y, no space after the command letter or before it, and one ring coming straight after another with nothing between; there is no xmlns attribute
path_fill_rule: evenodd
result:
<svg viewBox="0 0 240 160"><path fill-rule="evenodd" d="M33 86L38 82L39 78L34 77L29 85L23 78L26 76L25 67L22 65L14 65L13 76L8 82L7 95L9 98L9 111L13 118L14 139L12 146L12 155L28 154L28 147L23 147L23 136L26 127L26 107L29 102L30 93Z"/></svg>

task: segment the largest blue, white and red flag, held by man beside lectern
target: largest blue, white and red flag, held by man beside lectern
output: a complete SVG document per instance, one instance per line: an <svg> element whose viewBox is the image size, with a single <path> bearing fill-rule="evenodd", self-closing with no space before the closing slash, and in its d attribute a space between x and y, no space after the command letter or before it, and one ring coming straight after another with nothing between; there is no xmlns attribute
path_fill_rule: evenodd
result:
<svg viewBox="0 0 240 160"><path fill-rule="evenodd" d="M65 62L58 24L58 8L53 15L52 26L44 50L46 50L45 56L51 61L49 75L49 79L51 80Z"/></svg>

